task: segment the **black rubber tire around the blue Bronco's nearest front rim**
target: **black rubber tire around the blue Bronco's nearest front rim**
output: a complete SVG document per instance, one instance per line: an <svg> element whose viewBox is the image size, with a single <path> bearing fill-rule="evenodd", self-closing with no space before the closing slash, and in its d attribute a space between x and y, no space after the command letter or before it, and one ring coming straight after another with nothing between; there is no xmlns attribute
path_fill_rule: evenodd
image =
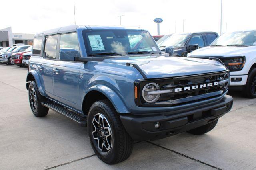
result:
<svg viewBox="0 0 256 170"><path fill-rule="evenodd" d="M94 139L94 116L102 114L108 121L112 133L112 145L108 152L102 152ZM88 113L88 136L92 149L106 164L116 164L126 160L132 153L133 140L124 129L119 113L116 112L109 100L100 100L92 104ZM95 133L95 132L94 132ZM106 139L105 139L106 140ZM99 142L99 141L98 141Z"/></svg>

